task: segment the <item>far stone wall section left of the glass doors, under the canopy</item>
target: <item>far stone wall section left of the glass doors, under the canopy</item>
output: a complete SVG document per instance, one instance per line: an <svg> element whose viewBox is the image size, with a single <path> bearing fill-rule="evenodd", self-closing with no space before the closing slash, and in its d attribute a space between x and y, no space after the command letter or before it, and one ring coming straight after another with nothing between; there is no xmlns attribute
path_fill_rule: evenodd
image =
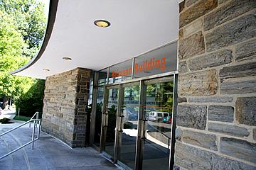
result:
<svg viewBox="0 0 256 170"><path fill-rule="evenodd" d="M46 78L42 130L70 147L85 147L89 69L73 69ZM88 120L90 121L90 119Z"/></svg>

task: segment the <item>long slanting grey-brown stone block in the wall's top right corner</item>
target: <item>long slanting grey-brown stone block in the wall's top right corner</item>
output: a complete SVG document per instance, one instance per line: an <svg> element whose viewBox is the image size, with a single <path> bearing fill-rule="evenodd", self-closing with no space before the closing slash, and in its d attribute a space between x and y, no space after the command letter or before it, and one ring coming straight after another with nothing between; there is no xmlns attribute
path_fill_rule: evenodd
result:
<svg viewBox="0 0 256 170"><path fill-rule="evenodd" d="M204 30L210 30L254 8L256 8L255 0L229 1L204 17L203 28Z"/></svg>

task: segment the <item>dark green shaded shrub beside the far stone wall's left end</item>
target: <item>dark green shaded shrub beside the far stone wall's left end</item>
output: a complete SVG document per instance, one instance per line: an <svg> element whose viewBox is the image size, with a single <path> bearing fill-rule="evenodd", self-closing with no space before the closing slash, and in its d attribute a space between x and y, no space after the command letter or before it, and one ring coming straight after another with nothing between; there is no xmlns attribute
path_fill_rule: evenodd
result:
<svg viewBox="0 0 256 170"><path fill-rule="evenodd" d="M43 109L43 90L45 87L44 80L38 80L31 89L22 94L16 100L16 109L20 108L20 115L33 116L37 111L42 112Z"/></svg>

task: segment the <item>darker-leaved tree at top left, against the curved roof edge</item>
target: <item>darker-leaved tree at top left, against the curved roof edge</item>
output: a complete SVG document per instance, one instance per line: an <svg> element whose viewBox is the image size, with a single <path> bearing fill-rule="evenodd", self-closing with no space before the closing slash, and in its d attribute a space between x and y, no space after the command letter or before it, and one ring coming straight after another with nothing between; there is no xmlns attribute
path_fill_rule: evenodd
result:
<svg viewBox="0 0 256 170"><path fill-rule="evenodd" d="M0 0L0 10L13 16L16 30L25 46L23 55L33 57L38 52L46 30L45 6L37 0Z"/></svg>

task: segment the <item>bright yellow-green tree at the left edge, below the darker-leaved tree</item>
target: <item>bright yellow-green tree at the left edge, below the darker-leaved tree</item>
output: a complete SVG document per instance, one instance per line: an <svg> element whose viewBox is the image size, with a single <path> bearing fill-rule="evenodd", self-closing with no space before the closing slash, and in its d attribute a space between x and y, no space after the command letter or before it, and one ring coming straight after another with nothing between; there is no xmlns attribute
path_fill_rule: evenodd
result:
<svg viewBox="0 0 256 170"><path fill-rule="evenodd" d="M0 11L0 94L4 96L4 107L8 97L17 98L35 83L31 78L9 74L29 60L22 56L24 42L16 29L13 16Z"/></svg>

